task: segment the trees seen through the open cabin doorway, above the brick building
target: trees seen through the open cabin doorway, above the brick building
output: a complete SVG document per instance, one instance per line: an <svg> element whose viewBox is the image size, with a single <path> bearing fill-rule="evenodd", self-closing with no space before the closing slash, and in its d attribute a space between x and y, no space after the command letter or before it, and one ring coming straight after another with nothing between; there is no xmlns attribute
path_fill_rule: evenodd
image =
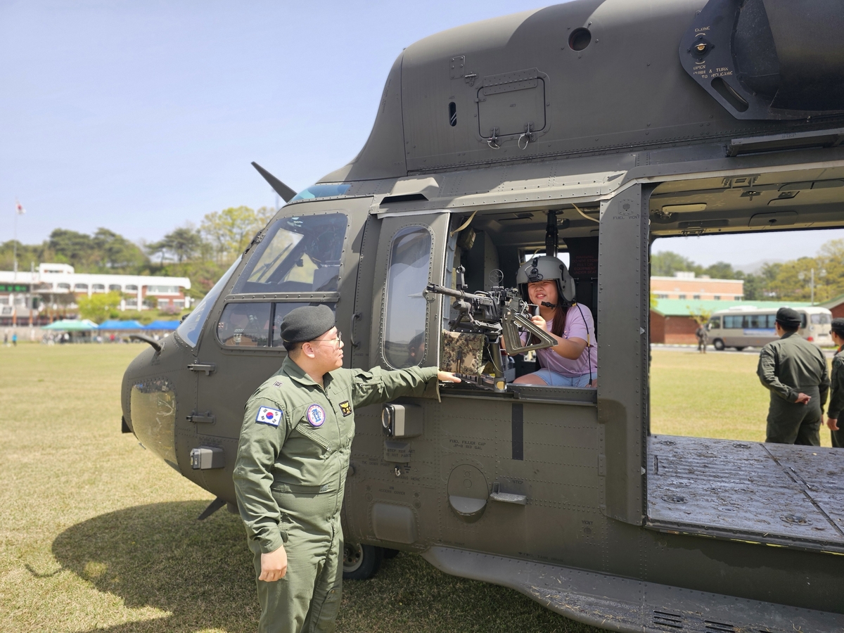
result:
<svg viewBox="0 0 844 633"><path fill-rule="evenodd" d="M810 279L814 269L814 302L824 303L844 295L844 240L831 240L820 247L815 257L799 257L782 263L766 263L757 273L744 273L728 262L701 266L675 252L651 256L651 274L673 277L674 273L692 272L712 279L743 279L744 300L809 301Z"/></svg>

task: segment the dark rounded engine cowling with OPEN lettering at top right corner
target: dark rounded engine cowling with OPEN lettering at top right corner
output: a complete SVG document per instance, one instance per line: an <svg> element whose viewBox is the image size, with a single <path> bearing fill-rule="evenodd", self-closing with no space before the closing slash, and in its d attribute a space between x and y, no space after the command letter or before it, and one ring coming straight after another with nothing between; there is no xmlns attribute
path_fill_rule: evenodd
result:
<svg viewBox="0 0 844 633"><path fill-rule="evenodd" d="M844 12L836 0L711 0L680 62L739 119L844 111Z"/></svg>

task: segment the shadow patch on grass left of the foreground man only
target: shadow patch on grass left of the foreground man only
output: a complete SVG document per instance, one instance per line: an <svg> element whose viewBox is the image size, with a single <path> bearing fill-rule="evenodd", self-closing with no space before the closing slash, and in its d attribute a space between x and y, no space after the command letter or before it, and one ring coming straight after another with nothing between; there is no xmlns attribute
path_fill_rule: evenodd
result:
<svg viewBox="0 0 844 633"><path fill-rule="evenodd" d="M206 501L136 506L78 523L59 534L52 553L62 568L128 609L153 607L165 618L91 630L255 630L260 609L252 555L239 517L197 516Z"/></svg>

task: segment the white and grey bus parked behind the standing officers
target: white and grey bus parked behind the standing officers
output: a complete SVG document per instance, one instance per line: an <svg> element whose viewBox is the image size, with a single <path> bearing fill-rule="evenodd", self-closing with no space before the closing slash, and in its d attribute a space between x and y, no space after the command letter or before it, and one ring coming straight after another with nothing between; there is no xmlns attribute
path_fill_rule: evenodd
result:
<svg viewBox="0 0 844 633"><path fill-rule="evenodd" d="M798 333L819 347L835 345L830 337L832 312L818 306L794 308L800 315ZM777 308L734 306L712 314L706 329L715 349L761 347L776 341L774 332Z"/></svg>

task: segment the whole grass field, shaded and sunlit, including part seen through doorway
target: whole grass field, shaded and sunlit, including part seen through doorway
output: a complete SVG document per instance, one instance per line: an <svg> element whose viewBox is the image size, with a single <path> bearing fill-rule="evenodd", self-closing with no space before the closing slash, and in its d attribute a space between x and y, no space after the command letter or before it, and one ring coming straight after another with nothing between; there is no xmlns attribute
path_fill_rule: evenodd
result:
<svg viewBox="0 0 844 633"><path fill-rule="evenodd" d="M0 347L0 631L254 631L238 517L120 433L139 345ZM764 436L755 357L655 350L655 433ZM828 434L826 441L828 442ZM594 631L416 555L347 582L338 630Z"/></svg>

